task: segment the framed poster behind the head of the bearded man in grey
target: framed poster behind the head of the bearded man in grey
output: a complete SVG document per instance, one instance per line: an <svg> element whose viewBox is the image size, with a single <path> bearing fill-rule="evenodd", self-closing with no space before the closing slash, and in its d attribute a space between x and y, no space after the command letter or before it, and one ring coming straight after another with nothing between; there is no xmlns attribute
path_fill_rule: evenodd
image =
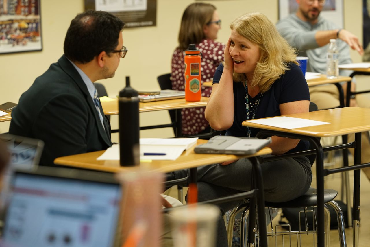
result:
<svg viewBox="0 0 370 247"><path fill-rule="evenodd" d="M296 13L297 9L296 0L279 0L279 20L289 16L289 14ZM320 16L343 28L343 0L326 0Z"/></svg>

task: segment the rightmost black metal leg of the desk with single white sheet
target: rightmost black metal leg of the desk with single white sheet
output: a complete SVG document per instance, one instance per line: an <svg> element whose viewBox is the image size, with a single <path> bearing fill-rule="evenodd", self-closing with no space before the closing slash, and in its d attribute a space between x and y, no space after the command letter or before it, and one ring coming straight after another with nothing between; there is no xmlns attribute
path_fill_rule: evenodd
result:
<svg viewBox="0 0 370 247"><path fill-rule="evenodd" d="M361 132L354 136L354 165L361 164ZM353 247L359 246L361 170L353 171Z"/></svg>

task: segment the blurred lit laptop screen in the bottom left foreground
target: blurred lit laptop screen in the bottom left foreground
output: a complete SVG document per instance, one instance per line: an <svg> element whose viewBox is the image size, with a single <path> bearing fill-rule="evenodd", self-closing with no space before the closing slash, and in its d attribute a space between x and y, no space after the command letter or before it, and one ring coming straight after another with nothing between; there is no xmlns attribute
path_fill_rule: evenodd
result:
<svg viewBox="0 0 370 247"><path fill-rule="evenodd" d="M10 246L113 246L119 184L16 172L3 241Z"/></svg>

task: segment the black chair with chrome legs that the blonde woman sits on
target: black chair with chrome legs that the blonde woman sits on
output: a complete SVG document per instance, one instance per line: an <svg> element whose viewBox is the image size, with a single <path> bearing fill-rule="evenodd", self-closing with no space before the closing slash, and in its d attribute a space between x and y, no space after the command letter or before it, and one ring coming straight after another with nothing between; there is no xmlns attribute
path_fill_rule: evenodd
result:
<svg viewBox="0 0 370 247"><path fill-rule="evenodd" d="M317 105L310 102L310 108L309 111L317 111ZM309 150L313 149L313 146L310 143ZM310 154L306 156L310 160L311 166L313 165L316 154ZM261 163L263 161L272 160L272 159L279 159L277 156L272 158L261 158ZM263 164L262 164L263 166ZM338 220L338 231L339 231L339 239L341 247L346 246L346 234L344 231L344 217L343 212L340 206L334 201L334 198L337 196L338 192L336 190L331 189L324 189L324 203L327 205L330 205L334 208L336 214L337 214L337 220ZM316 188L310 187L306 194L295 198L294 200L285 201L282 203L271 203L268 201L265 201L265 207L267 208L303 208L306 214L307 207L314 207L317 206L317 192ZM246 222L246 219L248 218L249 214L249 204L242 204L236 208L234 208L231 212L230 218L229 218L229 224L228 224L228 242L229 246L232 244L232 237L233 237L233 226L235 223L235 216L240 211L243 210L242 213L242 219L241 219L241 236L240 236L240 246L243 246L245 243L245 225L244 222ZM327 207L324 208L324 215L325 215L325 237L326 237L326 246L329 246L329 234L330 234L330 213ZM307 234L308 233L308 224L307 224L307 217L305 217L305 223L306 223L306 231L291 231L293 234ZM266 227L266 226L259 226L259 227ZM273 235L273 229L271 229L271 235ZM269 235L269 236L271 236Z"/></svg>

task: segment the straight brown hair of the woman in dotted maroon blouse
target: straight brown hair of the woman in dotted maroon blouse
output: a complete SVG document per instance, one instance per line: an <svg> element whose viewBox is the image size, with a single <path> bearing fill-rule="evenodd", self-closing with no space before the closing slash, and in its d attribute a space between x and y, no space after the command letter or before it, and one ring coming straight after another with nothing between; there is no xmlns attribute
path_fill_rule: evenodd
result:
<svg viewBox="0 0 370 247"><path fill-rule="evenodd" d="M192 3L182 14L179 31L179 48L186 50L189 44L199 44L205 39L203 28L212 21L216 7L209 3Z"/></svg>

